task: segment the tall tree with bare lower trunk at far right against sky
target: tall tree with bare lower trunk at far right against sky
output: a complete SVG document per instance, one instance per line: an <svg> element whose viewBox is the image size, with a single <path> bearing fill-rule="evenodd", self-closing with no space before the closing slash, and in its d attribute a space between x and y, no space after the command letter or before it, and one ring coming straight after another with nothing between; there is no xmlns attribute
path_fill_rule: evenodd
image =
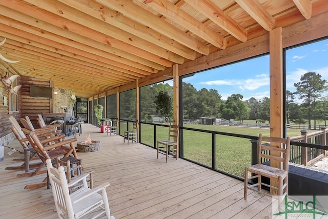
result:
<svg viewBox="0 0 328 219"><path fill-rule="evenodd" d="M320 74L315 72L307 72L301 76L300 82L294 83L296 94L299 99L303 100L304 107L308 111L309 129L311 129L311 119L314 118L316 125L316 100L320 98L321 93L327 88L327 81L321 79Z"/></svg>

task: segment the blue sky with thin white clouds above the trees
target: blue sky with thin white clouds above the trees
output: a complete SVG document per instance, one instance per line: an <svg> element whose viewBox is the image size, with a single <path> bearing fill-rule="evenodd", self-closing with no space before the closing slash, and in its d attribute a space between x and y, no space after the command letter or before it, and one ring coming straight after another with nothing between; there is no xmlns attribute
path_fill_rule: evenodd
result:
<svg viewBox="0 0 328 219"><path fill-rule="evenodd" d="M328 81L328 39L286 51L286 89L295 91L294 83L301 75L313 71ZM269 55L227 65L184 78L197 90L215 89L227 99L231 94L240 93L243 100L251 97L261 99L269 92ZM296 100L297 102L297 100Z"/></svg>

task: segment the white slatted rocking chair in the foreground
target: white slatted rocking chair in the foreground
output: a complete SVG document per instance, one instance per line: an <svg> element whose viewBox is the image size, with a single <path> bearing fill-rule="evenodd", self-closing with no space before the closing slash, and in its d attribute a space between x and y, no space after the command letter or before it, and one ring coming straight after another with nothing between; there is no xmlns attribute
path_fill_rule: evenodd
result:
<svg viewBox="0 0 328 219"><path fill-rule="evenodd" d="M52 167L50 159L46 163L59 218L81 218L87 214L87 218L97 218L106 214L107 218L115 219L114 216L110 216L106 193L106 187L109 186L109 183L104 183L94 189L90 189L87 184L87 176L89 174L84 173L75 176L68 184L63 166L60 166L58 169ZM83 186L72 194L69 194L69 187L81 181L83 181ZM100 191L101 194L98 193Z"/></svg>

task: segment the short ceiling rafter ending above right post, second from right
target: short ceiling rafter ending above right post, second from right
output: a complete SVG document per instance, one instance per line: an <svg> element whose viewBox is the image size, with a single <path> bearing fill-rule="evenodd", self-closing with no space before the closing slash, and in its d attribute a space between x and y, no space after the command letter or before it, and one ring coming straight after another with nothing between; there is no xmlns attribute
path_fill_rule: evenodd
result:
<svg viewBox="0 0 328 219"><path fill-rule="evenodd" d="M243 8L255 21L265 30L270 31L275 28L275 19L258 0L235 0L236 3Z"/></svg>

